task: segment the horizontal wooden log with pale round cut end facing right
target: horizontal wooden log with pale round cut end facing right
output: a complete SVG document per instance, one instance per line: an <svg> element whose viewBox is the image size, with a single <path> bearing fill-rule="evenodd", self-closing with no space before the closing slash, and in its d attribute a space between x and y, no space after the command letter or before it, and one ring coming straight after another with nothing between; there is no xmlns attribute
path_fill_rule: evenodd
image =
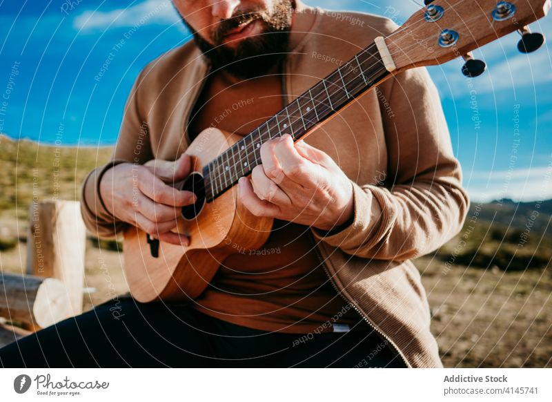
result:
<svg viewBox="0 0 552 402"><path fill-rule="evenodd" d="M60 280L0 273L0 316L37 329L72 316L72 307Z"/></svg>

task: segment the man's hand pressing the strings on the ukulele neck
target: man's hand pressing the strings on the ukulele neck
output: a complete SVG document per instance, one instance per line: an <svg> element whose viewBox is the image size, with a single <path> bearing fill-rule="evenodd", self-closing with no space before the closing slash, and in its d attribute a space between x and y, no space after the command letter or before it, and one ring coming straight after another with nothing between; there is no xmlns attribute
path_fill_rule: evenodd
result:
<svg viewBox="0 0 552 402"><path fill-rule="evenodd" d="M255 216L324 231L353 216L353 184L324 151L285 134L261 146L262 164L240 178L238 194Z"/></svg>

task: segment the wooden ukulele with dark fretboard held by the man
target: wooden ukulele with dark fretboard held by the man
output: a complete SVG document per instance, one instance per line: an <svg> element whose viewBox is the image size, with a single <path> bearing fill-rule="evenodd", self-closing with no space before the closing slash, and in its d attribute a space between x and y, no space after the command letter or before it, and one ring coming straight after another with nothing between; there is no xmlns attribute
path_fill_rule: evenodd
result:
<svg viewBox="0 0 552 402"><path fill-rule="evenodd" d="M259 249L273 218L253 216L237 200L237 180L261 162L263 142L284 133L294 142L335 116L389 77L409 68L443 64L463 57L462 73L476 77L483 61L471 50L517 31L517 48L532 52L544 43L527 25L544 17L550 0L426 0L406 23L357 53L299 95L245 137L217 128L201 131L188 146L192 173L178 189L193 191L195 204L181 209L173 231L190 244L171 245L130 226L124 232L124 269L130 293L140 302L197 298L230 254Z"/></svg>

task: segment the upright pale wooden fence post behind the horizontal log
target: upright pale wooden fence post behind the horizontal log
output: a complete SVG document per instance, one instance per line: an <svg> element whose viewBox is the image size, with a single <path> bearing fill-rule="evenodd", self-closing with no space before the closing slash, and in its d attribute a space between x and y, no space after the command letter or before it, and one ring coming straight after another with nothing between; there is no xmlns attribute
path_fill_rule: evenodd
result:
<svg viewBox="0 0 552 402"><path fill-rule="evenodd" d="M29 210L27 273L61 280L72 316L82 313L86 227L78 201L32 202Z"/></svg>

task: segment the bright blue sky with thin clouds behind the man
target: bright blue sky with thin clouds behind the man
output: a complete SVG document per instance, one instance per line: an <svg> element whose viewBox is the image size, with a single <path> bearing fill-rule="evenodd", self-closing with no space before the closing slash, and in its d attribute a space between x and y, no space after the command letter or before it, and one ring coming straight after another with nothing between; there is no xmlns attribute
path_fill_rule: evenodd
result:
<svg viewBox="0 0 552 402"><path fill-rule="evenodd" d="M420 8L406 0L306 3L392 15L397 23ZM531 29L552 40L552 16ZM552 198L551 49L522 55L518 38L475 52L488 70L471 83L460 61L429 68L474 200ZM0 0L0 92L8 95L0 132L50 144L114 144L141 68L188 39L169 0Z"/></svg>

